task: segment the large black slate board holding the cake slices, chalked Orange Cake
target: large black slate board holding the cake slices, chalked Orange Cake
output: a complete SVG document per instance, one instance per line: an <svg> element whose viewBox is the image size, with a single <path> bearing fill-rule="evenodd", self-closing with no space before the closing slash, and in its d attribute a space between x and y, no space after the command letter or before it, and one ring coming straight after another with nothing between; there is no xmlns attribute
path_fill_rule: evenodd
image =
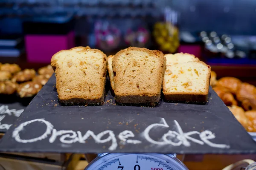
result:
<svg viewBox="0 0 256 170"><path fill-rule="evenodd" d="M114 105L110 91L105 102L102 106L61 106L53 76L0 141L0 151L256 153L256 143L211 88L205 105L164 101L154 108ZM41 119L41 122L27 122L35 119ZM45 121L50 124L46 125ZM153 128L146 132L150 127ZM119 136L123 131L130 133L127 136L130 140L125 142L122 135ZM187 132L191 131L195 134L188 136ZM56 132L59 136L55 136ZM209 134L211 132L213 134ZM151 140L146 139L147 134ZM167 143L163 144L163 139Z"/></svg>

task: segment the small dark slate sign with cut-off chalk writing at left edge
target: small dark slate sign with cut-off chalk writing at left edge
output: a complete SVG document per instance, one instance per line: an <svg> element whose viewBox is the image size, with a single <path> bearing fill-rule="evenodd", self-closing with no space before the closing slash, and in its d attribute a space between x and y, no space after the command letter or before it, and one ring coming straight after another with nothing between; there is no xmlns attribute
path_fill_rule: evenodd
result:
<svg viewBox="0 0 256 170"><path fill-rule="evenodd" d="M6 133L25 108L26 106L17 101L0 102L0 133Z"/></svg>

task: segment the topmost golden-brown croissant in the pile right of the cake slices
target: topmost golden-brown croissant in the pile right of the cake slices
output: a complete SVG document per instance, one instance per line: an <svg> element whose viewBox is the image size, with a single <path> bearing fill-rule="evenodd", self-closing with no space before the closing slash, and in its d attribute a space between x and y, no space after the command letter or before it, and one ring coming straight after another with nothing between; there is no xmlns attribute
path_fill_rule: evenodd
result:
<svg viewBox="0 0 256 170"><path fill-rule="evenodd" d="M241 81L235 77L222 77L218 80L217 86L227 88L232 94L236 94L241 85Z"/></svg>

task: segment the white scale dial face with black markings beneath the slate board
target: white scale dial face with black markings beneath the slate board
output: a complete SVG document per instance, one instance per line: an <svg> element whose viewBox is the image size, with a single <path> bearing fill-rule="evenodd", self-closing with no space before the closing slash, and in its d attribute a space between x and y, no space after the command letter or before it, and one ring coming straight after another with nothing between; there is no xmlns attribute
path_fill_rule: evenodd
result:
<svg viewBox="0 0 256 170"><path fill-rule="evenodd" d="M188 170L174 156L148 153L109 153L91 162L85 170Z"/></svg>

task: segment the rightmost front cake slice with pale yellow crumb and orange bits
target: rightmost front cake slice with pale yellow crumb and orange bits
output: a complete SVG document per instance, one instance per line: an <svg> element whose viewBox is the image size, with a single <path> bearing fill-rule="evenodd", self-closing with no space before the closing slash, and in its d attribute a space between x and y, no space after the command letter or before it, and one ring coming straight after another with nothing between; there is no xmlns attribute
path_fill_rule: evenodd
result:
<svg viewBox="0 0 256 170"><path fill-rule="evenodd" d="M182 56L180 57L182 58ZM163 94L166 101L207 102L211 68L202 61L166 65Z"/></svg>

